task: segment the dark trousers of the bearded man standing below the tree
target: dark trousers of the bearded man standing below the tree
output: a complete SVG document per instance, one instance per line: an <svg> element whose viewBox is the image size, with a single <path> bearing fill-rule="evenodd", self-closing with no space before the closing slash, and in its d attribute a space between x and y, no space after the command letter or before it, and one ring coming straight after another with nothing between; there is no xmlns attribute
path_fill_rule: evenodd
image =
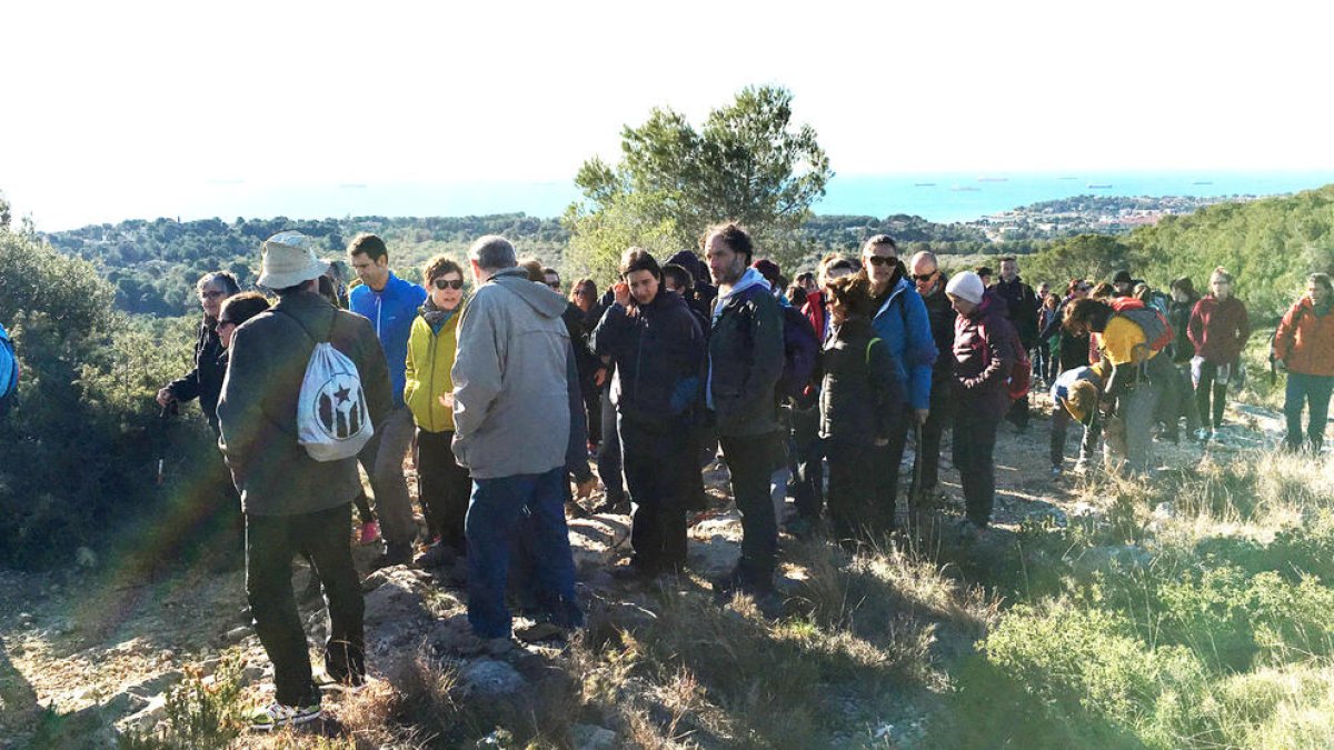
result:
<svg viewBox="0 0 1334 750"><path fill-rule="evenodd" d="M742 511L742 581L768 587L778 565L778 518L768 494L768 478L780 451L780 434L719 436L732 475L732 496Z"/></svg>

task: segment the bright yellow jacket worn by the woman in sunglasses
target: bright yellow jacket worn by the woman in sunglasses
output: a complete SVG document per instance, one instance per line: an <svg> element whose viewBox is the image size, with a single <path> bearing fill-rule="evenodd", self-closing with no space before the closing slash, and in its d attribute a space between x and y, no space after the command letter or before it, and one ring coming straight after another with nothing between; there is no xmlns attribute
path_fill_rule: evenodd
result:
<svg viewBox="0 0 1334 750"><path fill-rule="evenodd" d="M412 411L412 420L427 432L452 432L454 410L440 403L440 396L454 391L454 355L459 344L460 304L440 330L432 330L423 315L412 320L408 334L408 356L404 367L403 403Z"/></svg>

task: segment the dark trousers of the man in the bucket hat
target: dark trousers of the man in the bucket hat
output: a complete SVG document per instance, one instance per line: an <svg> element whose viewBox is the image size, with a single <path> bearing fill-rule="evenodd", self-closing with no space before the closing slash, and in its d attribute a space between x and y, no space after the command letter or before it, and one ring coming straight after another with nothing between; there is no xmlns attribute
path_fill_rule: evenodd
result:
<svg viewBox="0 0 1334 750"><path fill-rule="evenodd" d="M320 702L292 594L292 555L297 552L309 555L324 585L329 613L325 671L340 682L360 683L366 677L366 605L352 566L351 524L350 503L301 515L245 516L245 595L255 634L273 662L277 702L284 706Z"/></svg>

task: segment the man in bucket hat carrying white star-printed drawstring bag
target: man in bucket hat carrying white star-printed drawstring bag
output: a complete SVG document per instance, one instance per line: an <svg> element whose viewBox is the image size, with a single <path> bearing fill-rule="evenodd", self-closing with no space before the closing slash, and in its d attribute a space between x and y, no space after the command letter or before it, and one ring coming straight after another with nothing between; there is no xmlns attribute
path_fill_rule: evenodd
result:
<svg viewBox="0 0 1334 750"><path fill-rule="evenodd" d="M312 352L327 342L338 352L334 356L356 367L352 382L360 380L366 407L359 414L368 414L371 426L384 419L392 399L371 323L319 295L317 279L327 264L315 256L309 238L273 235L263 254L259 284L279 302L233 334L217 416L223 454L245 512L245 594L255 633L273 662L276 699L255 713L252 727L272 730L321 715L292 595L296 552L311 555L324 583L325 670L350 685L366 679L364 603L348 536L351 503L362 484L355 455L317 460L300 442L305 438L297 427L297 402Z"/></svg>

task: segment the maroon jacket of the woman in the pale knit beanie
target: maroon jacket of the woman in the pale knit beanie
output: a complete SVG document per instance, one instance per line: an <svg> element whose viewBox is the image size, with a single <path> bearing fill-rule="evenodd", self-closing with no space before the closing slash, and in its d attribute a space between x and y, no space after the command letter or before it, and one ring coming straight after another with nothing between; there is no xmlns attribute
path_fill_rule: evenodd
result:
<svg viewBox="0 0 1334 750"><path fill-rule="evenodd" d="M1006 379L1019 352L1010 346L1005 302L991 290L970 314L954 323L954 394L960 414L999 419L1010 406Z"/></svg>

